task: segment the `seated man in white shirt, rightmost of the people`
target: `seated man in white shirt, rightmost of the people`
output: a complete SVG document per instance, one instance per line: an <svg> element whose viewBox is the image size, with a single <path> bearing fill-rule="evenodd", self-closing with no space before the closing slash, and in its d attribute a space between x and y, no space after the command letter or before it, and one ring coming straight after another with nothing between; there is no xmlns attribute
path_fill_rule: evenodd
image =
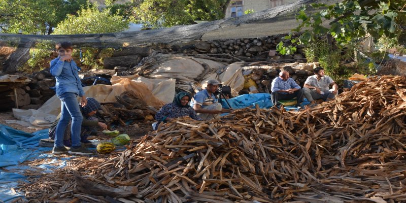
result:
<svg viewBox="0 0 406 203"><path fill-rule="evenodd" d="M334 98L339 89L333 79L324 75L323 67L316 67L313 72L314 76L310 76L303 85L303 94L310 101L310 106L316 106L316 99Z"/></svg>

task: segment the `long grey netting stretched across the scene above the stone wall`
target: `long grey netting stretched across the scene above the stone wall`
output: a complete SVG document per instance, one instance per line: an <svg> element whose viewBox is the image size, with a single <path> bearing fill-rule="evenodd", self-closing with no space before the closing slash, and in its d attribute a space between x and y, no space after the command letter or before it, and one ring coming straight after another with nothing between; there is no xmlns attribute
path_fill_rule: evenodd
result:
<svg viewBox="0 0 406 203"><path fill-rule="evenodd" d="M334 4L342 0L301 0L278 8L258 11L240 17L226 18L206 23L175 26L164 29L150 29L140 31L97 33L82 35L14 35L0 34L1 41L16 42L20 39L29 41L70 41L75 46L93 48L121 48L123 45L131 47L146 46L153 43L176 44L196 40L241 39L273 36L291 32L299 25L295 14L307 4ZM228 2L228 0L227 0ZM223 6L226 9L228 4ZM318 8L316 11L320 11ZM308 13L314 9L306 10ZM328 26L329 21L323 23ZM254 31L253 31L254 30Z"/></svg>

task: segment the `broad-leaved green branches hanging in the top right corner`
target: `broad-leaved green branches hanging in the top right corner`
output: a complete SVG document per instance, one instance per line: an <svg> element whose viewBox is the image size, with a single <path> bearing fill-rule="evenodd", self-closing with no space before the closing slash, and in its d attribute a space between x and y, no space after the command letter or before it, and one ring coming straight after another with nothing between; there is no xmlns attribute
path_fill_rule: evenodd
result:
<svg viewBox="0 0 406 203"><path fill-rule="evenodd" d="M313 8L324 10L306 14L306 8L303 8L296 15L296 19L301 23L293 31L303 32L297 40L304 45L315 41L318 36L331 35L340 48L356 44L367 33L373 36L374 40L382 36L394 38L401 33L396 21L404 5L406 0L344 0L330 6L312 4ZM323 25L325 20L331 21L328 27Z"/></svg>

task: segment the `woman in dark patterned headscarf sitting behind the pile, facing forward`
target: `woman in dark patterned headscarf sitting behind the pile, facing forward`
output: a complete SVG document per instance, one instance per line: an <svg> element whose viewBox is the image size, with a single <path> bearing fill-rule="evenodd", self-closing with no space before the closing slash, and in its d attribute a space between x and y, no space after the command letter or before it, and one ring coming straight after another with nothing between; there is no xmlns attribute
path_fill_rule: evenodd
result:
<svg viewBox="0 0 406 203"><path fill-rule="evenodd" d="M188 105L192 97L187 92L179 92L173 103L164 105L158 113L155 114L155 120L159 122L171 121L175 118L189 116L194 120L201 120L192 107ZM156 128L156 127L155 127Z"/></svg>

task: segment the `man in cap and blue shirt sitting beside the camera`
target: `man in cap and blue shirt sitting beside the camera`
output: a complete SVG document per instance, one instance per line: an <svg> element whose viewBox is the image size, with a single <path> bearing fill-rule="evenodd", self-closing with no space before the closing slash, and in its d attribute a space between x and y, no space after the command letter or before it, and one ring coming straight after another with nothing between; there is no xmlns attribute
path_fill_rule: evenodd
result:
<svg viewBox="0 0 406 203"><path fill-rule="evenodd" d="M219 85L218 80L209 80L206 89L197 92L190 101L190 106L203 120L211 120L212 118L218 118L221 113L232 112L231 109L223 109L213 94L217 91Z"/></svg>

